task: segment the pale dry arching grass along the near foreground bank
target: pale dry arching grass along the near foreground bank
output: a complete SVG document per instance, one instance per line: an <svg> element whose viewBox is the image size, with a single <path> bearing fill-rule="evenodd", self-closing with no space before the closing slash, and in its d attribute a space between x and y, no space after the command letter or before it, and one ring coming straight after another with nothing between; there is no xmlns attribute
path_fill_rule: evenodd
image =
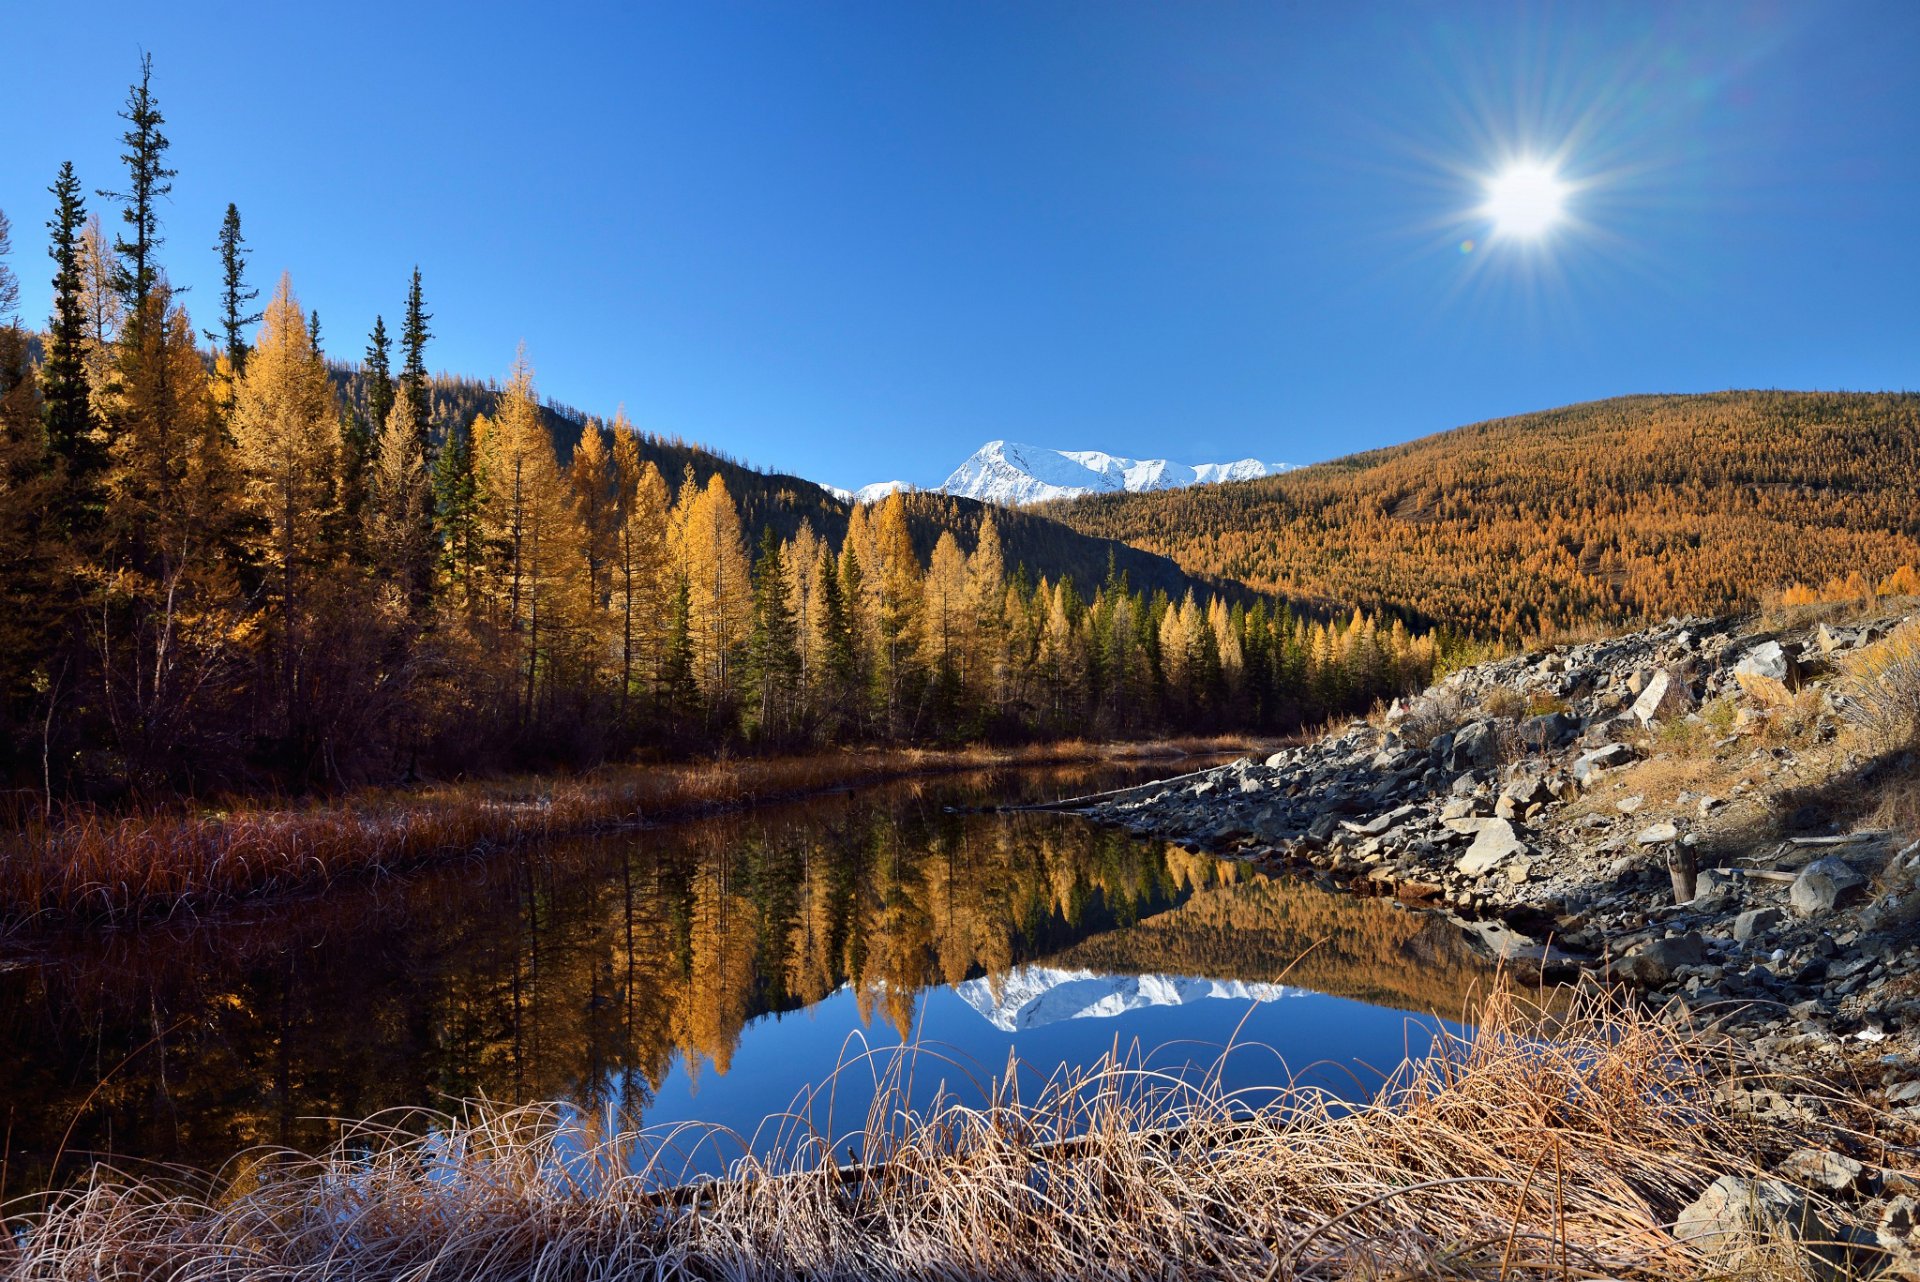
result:
<svg viewBox="0 0 1920 1282"><path fill-rule="evenodd" d="M1496 998L1367 1105L1250 1105L1129 1057L1031 1102L1000 1086L989 1107L910 1111L900 1073L851 1136L816 1128L816 1098L780 1157L722 1180L676 1184L678 1155L726 1134L470 1107L371 1123L317 1159L252 1155L204 1196L100 1171L15 1217L0 1261L21 1280L177 1282L1701 1278L1732 1261L1678 1242L1674 1213L1718 1175L1834 1140L1738 1111L1736 1065L1599 996L1546 1031ZM877 1159L835 1165L849 1138ZM1801 1247L1761 1246L1770 1263L1747 1253L1740 1276L1805 1276Z"/></svg>

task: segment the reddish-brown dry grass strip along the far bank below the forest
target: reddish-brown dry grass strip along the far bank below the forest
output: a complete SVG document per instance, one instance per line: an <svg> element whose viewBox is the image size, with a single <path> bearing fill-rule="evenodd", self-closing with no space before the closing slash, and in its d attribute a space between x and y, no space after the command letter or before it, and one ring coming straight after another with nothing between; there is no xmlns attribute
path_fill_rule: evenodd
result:
<svg viewBox="0 0 1920 1282"><path fill-rule="evenodd" d="M804 796L918 773L1146 760L1238 741L1052 743L1025 748L860 750L607 768L564 779L363 791L307 806L23 816L0 837L0 925L121 923L313 892L526 839Z"/></svg>

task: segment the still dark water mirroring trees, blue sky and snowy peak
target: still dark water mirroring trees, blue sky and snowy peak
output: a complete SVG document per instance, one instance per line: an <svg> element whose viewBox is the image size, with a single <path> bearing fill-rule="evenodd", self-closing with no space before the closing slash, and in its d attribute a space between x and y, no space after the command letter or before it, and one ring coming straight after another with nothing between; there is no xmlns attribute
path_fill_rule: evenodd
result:
<svg viewBox="0 0 1920 1282"><path fill-rule="evenodd" d="M1452 931L1384 900L972 810L1183 766L858 789L0 956L0 1199L476 1098L716 1123L684 1163L714 1171L810 1086L816 1128L858 1130L902 1046L916 1104L1116 1052L1359 1096L1484 990Z"/></svg>

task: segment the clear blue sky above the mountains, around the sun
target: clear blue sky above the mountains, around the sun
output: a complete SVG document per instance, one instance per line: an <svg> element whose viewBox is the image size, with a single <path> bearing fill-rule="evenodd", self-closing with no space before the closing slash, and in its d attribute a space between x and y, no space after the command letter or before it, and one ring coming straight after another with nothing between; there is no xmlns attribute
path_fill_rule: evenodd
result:
<svg viewBox="0 0 1920 1282"><path fill-rule="evenodd" d="M419 263L436 368L524 340L547 395L837 484L1920 382L1910 0L10 10L29 319L146 48L196 322L232 200L338 357ZM1476 213L1513 155L1572 188L1542 242Z"/></svg>

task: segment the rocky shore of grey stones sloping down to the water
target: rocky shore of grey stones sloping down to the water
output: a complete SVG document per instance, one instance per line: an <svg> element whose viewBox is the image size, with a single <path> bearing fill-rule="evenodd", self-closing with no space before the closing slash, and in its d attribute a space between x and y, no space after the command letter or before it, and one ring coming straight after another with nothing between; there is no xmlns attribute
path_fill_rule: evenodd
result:
<svg viewBox="0 0 1920 1282"><path fill-rule="evenodd" d="M1263 762L1066 806L1446 914L1548 979L1624 985L1803 1086L1757 1088L1759 1111L1820 1113L1820 1082L1847 1082L1878 1107L1876 1151L1788 1155L1682 1221L1791 1219L1811 1188L1864 1203L1882 1259L1920 1278L1916 764L1874 733L1868 683L1912 679L1872 662L1914 654L1920 624L1903 624L1668 620L1455 672Z"/></svg>

